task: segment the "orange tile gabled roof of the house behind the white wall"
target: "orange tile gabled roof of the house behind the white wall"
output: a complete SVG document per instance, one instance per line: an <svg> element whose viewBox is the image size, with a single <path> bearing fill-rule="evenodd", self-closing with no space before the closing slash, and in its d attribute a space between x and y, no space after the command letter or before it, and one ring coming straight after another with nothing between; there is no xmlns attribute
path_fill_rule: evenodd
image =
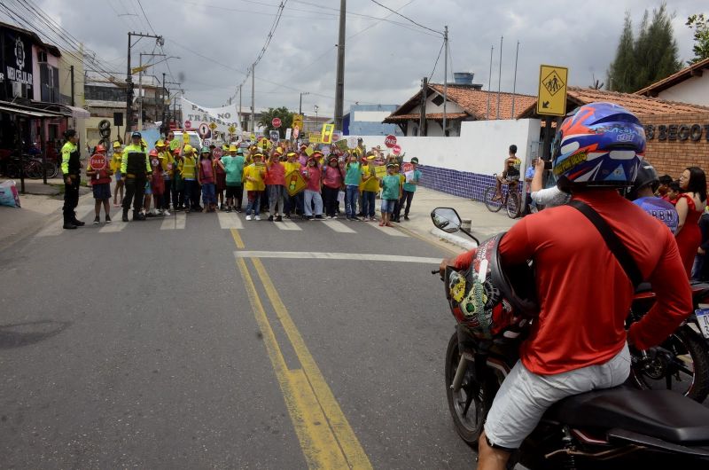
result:
<svg viewBox="0 0 709 470"><path fill-rule="evenodd" d="M432 93L443 94L443 84L441 83L429 83L427 94ZM497 93L487 92L483 90L476 90L471 88L471 86L456 85L455 83L448 83L448 101L456 103L458 106L463 108L464 113L449 113L447 117L450 119L469 119L471 121L479 121L487 119L487 98L489 96L490 102L490 117L489 119L495 119L497 115ZM515 97L515 117L519 117L520 114L531 104L536 103L536 97L530 95L521 95L519 93L513 95L512 93L500 93L500 119L510 119L512 111L512 97ZM419 114L411 113L411 111L421 103L421 93L417 93L403 105L399 106L399 109L394 111L389 115L384 122L393 121L409 121L417 120ZM406 118L404 118L406 116ZM426 114L428 119L443 119L442 113ZM440 117L439 117L440 116Z"/></svg>

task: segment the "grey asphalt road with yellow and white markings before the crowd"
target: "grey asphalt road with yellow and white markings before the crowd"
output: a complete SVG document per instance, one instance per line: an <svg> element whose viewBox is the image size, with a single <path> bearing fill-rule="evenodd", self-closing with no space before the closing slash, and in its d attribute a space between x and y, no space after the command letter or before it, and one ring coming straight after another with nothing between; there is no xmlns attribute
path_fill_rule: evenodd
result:
<svg viewBox="0 0 709 470"><path fill-rule="evenodd" d="M1 467L475 466L440 247L344 220L92 225L92 202L0 252Z"/></svg>

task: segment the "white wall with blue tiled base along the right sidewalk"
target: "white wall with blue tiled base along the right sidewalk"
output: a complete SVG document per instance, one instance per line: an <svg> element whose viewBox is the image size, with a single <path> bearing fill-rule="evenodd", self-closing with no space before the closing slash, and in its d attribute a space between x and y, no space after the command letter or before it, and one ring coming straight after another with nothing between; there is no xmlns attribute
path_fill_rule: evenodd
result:
<svg viewBox="0 0 709 470"><path fill-rule="evenodd" d="M404 161L418 157L422 185L449 194L482 200L494 173L503 170L511 144L518 147L522 172L539 141L540 120L464 121L460 137L398 137ZM383 136L358 136L367 148L380 145Z"/></svg>

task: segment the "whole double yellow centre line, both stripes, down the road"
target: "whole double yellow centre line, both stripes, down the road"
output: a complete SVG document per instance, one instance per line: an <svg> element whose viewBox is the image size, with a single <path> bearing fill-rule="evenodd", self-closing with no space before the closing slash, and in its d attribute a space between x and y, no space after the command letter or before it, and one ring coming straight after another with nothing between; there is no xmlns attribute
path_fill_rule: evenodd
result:
<svg viewBox="0 0 709 470"><path fill-rule="evenodd" d="M239 237L238 231L232 229L231 234L237 247L243 248L244 242ZM264 345L273 370L276 372L278 385L283 393L285 406L291 416L308 468L372 468L369 458L340 410L315 359L310 355L288 310L285 309L269 274L258 259L252 258L252 262L302 365L302 369L289 370L285 364L276 334L269 324L269 318L253 284L245 259L238 258L237 265L244 279L246 294L263 335Z"/></svg>

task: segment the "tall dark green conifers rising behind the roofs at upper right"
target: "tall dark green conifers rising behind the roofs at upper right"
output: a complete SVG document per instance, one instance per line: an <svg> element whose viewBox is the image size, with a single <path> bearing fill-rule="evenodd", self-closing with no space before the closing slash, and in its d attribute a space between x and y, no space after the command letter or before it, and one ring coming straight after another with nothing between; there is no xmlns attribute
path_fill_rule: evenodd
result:
<svg viewBox="0 0 709 470"><path fill-rule="evenodd" d="M672 15L667 13L666 4L652 11L652 20L647 10L644 12L634 40L632 31L627 15L616 58L608 72L610 88L614 91L632 93L682 68L679 48L674 39ZM632 52L628 41L633 43Z"/></svg>

